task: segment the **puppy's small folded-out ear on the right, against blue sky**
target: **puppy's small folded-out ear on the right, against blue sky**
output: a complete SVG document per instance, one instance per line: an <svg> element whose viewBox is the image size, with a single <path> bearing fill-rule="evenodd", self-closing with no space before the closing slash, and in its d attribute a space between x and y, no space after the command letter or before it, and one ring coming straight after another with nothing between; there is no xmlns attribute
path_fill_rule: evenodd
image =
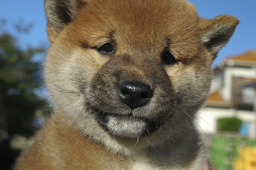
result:
<svg viewBox="0 0 256 170"><path fill-rule="evenodd" d="M239 20L230 15L220 15L212 20L199 19L201 40L214 57L227 44L238 24Z"/></svg>

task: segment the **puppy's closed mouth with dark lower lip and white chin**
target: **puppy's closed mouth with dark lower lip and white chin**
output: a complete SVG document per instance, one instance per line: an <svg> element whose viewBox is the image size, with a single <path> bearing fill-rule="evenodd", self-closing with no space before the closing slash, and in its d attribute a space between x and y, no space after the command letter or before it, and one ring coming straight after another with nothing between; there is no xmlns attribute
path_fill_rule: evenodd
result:
<svg viewBox="0 0 256 170"><path fill-rule="evenodd" d="M157 119L150 120L132 114L124 116L102 111L96 112L96 121L113 136L128 138L148 136L161 125Z"/></svg>

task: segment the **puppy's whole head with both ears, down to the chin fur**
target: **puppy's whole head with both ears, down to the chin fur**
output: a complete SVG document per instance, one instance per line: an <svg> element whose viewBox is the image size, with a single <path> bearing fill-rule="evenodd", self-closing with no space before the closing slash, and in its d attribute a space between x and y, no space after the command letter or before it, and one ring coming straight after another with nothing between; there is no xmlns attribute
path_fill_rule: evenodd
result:
<svg viewBox="0 0 256 170"><path fill-rule="evenodd" d="M200 18L184 0L46 0L45 8L49 91L77 129L101 142L105 133L187 133L212 61L239 23Z"/></svg>

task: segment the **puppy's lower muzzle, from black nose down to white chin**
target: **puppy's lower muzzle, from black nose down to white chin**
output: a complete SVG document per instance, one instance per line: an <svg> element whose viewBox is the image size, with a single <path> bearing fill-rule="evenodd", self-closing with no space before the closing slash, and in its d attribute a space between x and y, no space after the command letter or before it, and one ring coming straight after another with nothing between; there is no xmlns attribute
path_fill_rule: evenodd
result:
<svg viewBox="0 0 256 170"><path fill-rule="evenodd" d="M113 83L109 77L100 78L93 79L97 88L89 87L91 95L85 104L107 133L126 138L149 136L170 115L173 102L169 86L133 79Z"/></svg>

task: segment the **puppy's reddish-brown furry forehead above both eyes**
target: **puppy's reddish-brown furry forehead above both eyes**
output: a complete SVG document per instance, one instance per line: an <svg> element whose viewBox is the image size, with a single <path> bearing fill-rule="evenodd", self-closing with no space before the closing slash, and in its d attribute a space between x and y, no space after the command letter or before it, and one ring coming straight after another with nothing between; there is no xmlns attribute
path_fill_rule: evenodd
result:
<svg viewBox="0 0 256 170"><path fill-rule="evenodd" d="M164 47L168 39L173 44L188 39L194 43L198 37L197 11L184 0L95 0L78 20L79 34L84 31L92 42L113 38L122 48Z"/></svg>

